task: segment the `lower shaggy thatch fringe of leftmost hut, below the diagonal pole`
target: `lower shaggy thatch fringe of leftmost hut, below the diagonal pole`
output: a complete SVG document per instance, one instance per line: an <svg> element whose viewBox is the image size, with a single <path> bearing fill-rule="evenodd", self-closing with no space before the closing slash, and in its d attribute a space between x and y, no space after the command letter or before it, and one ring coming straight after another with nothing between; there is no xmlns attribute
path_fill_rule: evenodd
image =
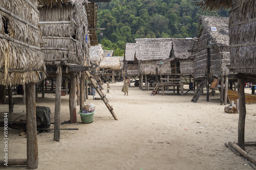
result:
<svg viewBox="0 0 256 170"><path fill-rule="evenodd" d="M5 39L0 39L0 46L0 68L5 69L7 66L7 69L41 68L42 71L45 70L45 63L40 51ZM45 73L43 77L45 78ZM39 79L38 71L0 72L0 84L2 85L38 82Z"/></svg>

